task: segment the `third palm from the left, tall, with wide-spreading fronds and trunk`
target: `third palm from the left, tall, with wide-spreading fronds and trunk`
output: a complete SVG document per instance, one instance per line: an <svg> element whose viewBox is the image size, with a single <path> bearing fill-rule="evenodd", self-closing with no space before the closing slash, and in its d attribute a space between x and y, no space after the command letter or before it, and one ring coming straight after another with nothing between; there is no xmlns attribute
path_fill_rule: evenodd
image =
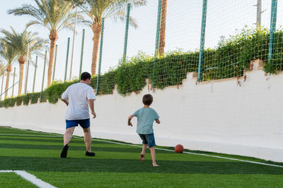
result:
<svg viewBox="0 0 283 188"><path fill-rule="evenodd" d="M9 14L13 15L30 15L34 18L27 27L30 25L43 25L50 31L50 56L48 63L48 77L47 86L51 83L52 66L54 59L54 49L58 39L58 33L64 28L72 29L74 23L73 4L71 1L64 0L34 0L36 6L23 4L20 8L9 10ZM81 15L77 15L77 23L86 23Z"/></svg>

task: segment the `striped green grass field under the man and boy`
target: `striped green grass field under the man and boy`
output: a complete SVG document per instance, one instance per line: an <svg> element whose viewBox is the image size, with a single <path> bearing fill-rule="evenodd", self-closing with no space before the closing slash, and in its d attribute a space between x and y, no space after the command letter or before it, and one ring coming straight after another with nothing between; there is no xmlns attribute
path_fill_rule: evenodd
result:
<svg viewBox="0 0 283 188"><path fill-rule="evenodd" d="M156 150L161 166L154 168L149 150L141 163L141 147L98 139L92 145L96 156L86 157L80 137L71 140L67 158L59 158L62 142L60 134L0 127L0 170L25 170L54 187L283 187L279 167ZM193 152L283 166L257 158ZM0 173L0 187L36 186L15 173Z"/></svg>

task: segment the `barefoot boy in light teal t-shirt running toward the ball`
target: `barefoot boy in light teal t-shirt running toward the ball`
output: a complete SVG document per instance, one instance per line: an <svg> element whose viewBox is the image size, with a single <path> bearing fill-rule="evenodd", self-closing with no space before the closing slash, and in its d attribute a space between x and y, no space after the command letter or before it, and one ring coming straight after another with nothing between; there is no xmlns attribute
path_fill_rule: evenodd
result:
<svg viewBox="0 0 283 188"><path fill-rule="evenodd" d="M154 140L154 130L152 127L154 120L158 124L160 123L160 120L156 111L154 111L153 108L149 108L153 100L154 98L151 96L151 94L145 94L144 97L142 98L142 103L144 104L144 107L134 112L134 114L129 115L128 125L132 126L131 120L132 118L134 118L134 116L136 116L137 134L139 134L139 137L141 137L143 144L140 159L142 162L144 162L146 146L149 145L149 150L151 151L152 165L158 166L156 164L156 158L155 158L154 146L156 146L156 144Z"/></svg>

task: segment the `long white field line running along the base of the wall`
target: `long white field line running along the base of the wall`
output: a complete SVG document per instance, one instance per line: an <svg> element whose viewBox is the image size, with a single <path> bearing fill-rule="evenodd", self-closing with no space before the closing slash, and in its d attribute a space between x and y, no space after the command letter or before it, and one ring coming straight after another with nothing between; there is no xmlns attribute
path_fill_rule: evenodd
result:
<svg viewBox="0 0 283 188"><path fill-rule="evenodd" d="M14 130L18 130L16 128L12 128L12 127L8 127L10 129L14 129ZM25 130L27 132L35 132L33 130ZM35 132L36 133L36 132ZM47 133L46 134L52 134L52 133ZM2 135L2 134L0 134ZM8 135L8 134L5 134L5 135ZM12 135L12 134L11 134ZM18 135L18 134L17 134ZM54 134L52 134L54 135ZM20 136L20 135L19 135ZM26 135L25 135L26 136ZM33 137L62 137L62 136L35 136L35 135L31 135ZM82 137L76 137L76 136L73 136L74 138L76 139L83 139ZM101 139L92 139L94 141L100 141L100 142L107 142L107 143L111 143L111 144L120 144L120 145L125 145L125 146L136 146L136 147L142 147L142 146L139 146L139 145L135 145L135 144L125 144L125 143L120 143L120 142L111 142L111 141L106 141L106 140L101 140ZM162 149L162 148L155 148L155 149L158 149L158 150L163 150L163 151L171 151L171 152L175 152L174 150L172 149ZM275 167L279 167L279 168L283 168L282 165L273 165L273 164L268 164L268 163L260 163L260 162L255 162L255 161L248 161L248 160L242 160L242 159L238 159L238 158L229 158L229 157L222 157L222 156L213 156L213 155L208 155L208 154L204 154L204 153L193 153L193 152L187 152L187 151L183 151L183 153L187 153L187 154L192 154L192 155L197 155L197 156L208 156L208 157L213 157L213 158L224 158L224 159L227 159L227 160L231 160L231 161L241 161L241 162L245 162L245 163L254 163L254 164L259 164L259 165L268 165L268 166L275 166Z"/></svg>

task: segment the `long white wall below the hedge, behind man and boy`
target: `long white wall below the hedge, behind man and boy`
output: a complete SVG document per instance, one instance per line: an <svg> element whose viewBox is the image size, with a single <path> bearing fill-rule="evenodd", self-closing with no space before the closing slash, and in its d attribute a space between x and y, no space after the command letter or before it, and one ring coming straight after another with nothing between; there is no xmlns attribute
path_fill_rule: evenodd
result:
<svg viewBox="0 0 283 188"><path fill-rule="evenodd" d="M127 117L142 106L141 98L154 96L152 108L161 117L154 124L156 144L186 149L254 156L283 162L283 74L267 76L261 70L247 73L247 81L236 78L195 84L188 74L180 88L167 87L140 94L98 96L96 119L91 119L93 137L141 143ZM0 125L30 130L64 133L67 106L32 104L0 108ZM83 135L76 128L76 135Z"/></svg>

